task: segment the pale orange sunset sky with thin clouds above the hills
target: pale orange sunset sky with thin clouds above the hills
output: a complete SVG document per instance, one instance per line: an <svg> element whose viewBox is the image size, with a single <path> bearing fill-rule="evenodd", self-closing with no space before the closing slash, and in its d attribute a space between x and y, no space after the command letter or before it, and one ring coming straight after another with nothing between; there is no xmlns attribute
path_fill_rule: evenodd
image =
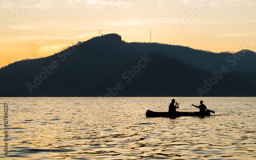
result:
<svg viewBox="0 0 256 160"><path fill-rule="evenodd" d="M127 42L185 45L212 52L256 52L252 0L3 0L0 67L54 54L77 41L118 33Z"/></svg>

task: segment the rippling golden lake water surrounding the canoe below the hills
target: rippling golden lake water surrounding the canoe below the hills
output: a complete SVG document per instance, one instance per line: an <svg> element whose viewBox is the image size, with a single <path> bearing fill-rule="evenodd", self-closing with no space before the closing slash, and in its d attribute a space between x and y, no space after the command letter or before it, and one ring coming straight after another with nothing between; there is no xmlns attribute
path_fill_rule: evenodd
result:
<svg viewBox="0 0 256 160"><path fill-rule="evenodd" d="M178 111L203 100L216 113L145 117L172 98L0 98L0 159L256 159L256 98L175 97Z"/></svg>

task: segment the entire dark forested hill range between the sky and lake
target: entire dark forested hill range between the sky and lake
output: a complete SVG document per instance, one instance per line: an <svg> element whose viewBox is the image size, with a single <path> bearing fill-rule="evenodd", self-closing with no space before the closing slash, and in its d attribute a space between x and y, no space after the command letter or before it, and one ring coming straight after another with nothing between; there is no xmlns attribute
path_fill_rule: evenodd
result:
<svg viewBox="0 0 256 160"><path fill-rule="evenodd" d="M255 96L256 55L242 52L238 59L108 34L1 68L0 96Z"/></svg>

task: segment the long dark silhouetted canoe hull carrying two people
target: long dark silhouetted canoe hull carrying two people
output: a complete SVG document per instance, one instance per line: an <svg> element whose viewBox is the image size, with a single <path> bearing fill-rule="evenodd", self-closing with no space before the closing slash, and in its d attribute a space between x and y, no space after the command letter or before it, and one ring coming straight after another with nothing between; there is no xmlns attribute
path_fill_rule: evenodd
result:
<svg viewBox="0 0 256 160"><path fill-rule="evenodd" d="M180 117L180 116L210 116L210 111L176 111L175 114L169 114L169 112L158 112L158 111L146 111L146 117Z"/></svg>

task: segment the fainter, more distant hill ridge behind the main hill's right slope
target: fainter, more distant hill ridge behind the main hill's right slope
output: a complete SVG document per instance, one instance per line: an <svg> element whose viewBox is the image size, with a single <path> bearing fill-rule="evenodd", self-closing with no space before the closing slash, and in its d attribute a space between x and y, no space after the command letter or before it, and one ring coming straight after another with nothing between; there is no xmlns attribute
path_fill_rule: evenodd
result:
<svg viewBox="0 0 256 160"><path fill-rule="evenodd" d="M202 68L203 70L218 71L226 65L230 71L256 73L256 53L250 50L241 50L231 54L228 52L212 53L195 50L180 45L168 45L159 43L129 43L138 52L145 54L153 51L163 52L178 59Z"/></svg>

